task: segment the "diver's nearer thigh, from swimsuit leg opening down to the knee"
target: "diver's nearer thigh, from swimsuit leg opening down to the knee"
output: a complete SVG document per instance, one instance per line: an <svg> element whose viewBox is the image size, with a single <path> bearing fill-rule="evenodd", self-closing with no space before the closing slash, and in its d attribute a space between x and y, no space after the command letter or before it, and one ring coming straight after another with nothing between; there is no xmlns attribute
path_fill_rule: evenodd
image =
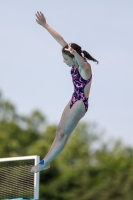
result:
<svg viewBox="0 0 133 200"><path fill-rule="evenodd" d="M64 134L70 135L75 127L77 126L80 119L85 115L85 106L83 101L78 100L69 109L67 115L62 120L62 132Z"/></svg>

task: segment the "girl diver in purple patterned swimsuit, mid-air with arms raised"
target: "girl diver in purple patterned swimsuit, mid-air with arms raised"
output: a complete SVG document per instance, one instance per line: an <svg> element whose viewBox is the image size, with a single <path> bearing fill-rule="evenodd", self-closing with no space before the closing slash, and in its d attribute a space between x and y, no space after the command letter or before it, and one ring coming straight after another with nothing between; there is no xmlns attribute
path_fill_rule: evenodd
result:
<svg viewBox="0 0 133 200"><path fill-rule="evenodd" d="M33 173L50 168L50 162L64 149L69 136L80 119L86 114L92 81L91 66L86 59L98 63L87 51L82 50L79 45L65 42L63 37L47 24L42 12L37 12L36 18L36 22L42 25L62 46L64 63L71 67L74 92L62 113L55 139L47 155L40 163L32 167L31 172Z"/></svg>

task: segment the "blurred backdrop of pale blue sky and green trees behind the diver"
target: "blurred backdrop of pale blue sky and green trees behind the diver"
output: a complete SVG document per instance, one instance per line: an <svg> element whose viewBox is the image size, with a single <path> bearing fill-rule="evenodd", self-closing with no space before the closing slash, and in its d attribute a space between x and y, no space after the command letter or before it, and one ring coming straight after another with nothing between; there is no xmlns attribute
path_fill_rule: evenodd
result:
<svg viewBox="0 0 133 200"><path fill-rule="evenodd" d="M37 11L66 42L79 44L99 61L90 62L93 80L87 114L50 170L41 172L41 199L130 200L131 0L0 2L0 157L43 158L74 90L61 46L36 23Z"/></svg>

